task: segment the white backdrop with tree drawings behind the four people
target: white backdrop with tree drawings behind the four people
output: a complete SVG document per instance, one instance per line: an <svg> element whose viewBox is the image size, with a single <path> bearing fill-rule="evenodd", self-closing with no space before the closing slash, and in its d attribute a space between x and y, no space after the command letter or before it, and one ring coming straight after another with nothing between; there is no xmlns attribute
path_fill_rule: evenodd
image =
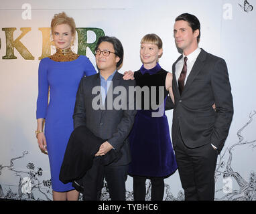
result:
<svg viewBox="0 0 256 214"><path fill-rule="evenodd" d="M27 200L52 199L48 181L50 180L48 156L38 148L34 134L40 62L38 58L42 55L43 41L40 27L50 27L54 14L65 11L67 15L74 17L76 27L99 28L105 35L119 38L125 49L125 59L120 72L140 68L141 37L147 33L156 33L164 42L164 54L159 63L162 68L172 72L172 64L180 55L174 43L174 19L181 13L188 12L196 15L200 20L200 47L226 60L233 93L235 114L225 147L218 157L215 198L216 200L255 200L255 10L256 2L253 0L249 2L243 0L2 0L0 3L0 197ZM13 36L7 35L6 28L11 27L16 28L13 30ZM19 39L21 27L31 27L31 30ZM13 54L17 58L6 59L7 51L11 50L8 46L10 38L20 41L34 60L23 58L16 48L20 43L13 47ZM95 39L95 33L88 31L87 43L93 43ZM77 49L76 45L75 51ZM86 56L95 66L94 56L88 48ZM171 128L172 110L166 114ZM165 200L184 199L178 171L166 179L165 183ZM132 199L131 191L132 180L128 177L127 200ZM108 199L107 195L104 199Z"/></svg>

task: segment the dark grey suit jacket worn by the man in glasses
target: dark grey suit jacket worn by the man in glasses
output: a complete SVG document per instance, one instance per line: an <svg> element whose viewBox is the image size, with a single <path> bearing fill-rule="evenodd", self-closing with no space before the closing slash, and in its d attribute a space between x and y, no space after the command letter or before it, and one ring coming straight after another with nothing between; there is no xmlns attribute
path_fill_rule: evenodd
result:
<svg viewBox="0 0 256 214"><path fill-rule="evenodd" d="M95 88L97 86L97 88ZM102 139L107 139L107 141L115 148L115 152L121 151L121 158L111 165L127 165L131 161L129 142L127 136L131 131L134 122L134 116L136 110L129 110L129 105L134 107L134 94L132 94L133 99L129 99L129 86L135 86L134 80L123 80L123 75L116 72L113 77L113 83L109 87L107 97L105 100L105 110L94 109L95 102L102 99L99 90L101 86L101 78L98 74L92 76L86 76L82 78L78 92L76 94L76 104L74 107L74 128L84 125L86 126L95 136ZM117 86L123 86L123 92L119 94L115 93L115 88ZM115 94L113 94L113 91ZM120 88L119 88L120 89ZM127 92L127 93L126 93ZM121 94L121 95L120 95ZM113 96L113 99L111 99ZM123 104L127 107L121 110L117 110L113 106L113 100L115 98L123 99ZM109 101L109 102L108 102ZM107 108L107 106L113 106L113 109ZM134 109L134 108L133 108Z"/></svg>

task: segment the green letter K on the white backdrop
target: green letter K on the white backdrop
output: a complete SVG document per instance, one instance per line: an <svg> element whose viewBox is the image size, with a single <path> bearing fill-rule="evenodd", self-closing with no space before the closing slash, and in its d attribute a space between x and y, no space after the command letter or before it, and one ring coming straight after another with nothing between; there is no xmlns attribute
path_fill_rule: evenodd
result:
<svg viewBox="0 0 256 214"><path fill-rule="evenodd" d="M34 56L32 56L23 43L19 41L27 32L31 31L31 27L21 27L20 30L22 33L15 41L13 41L13 32L16 30L16 27L2 28L2 30L5 31L6 38L6 54L3 56L4 60L17 59L17 57L14 56L14 47L25 60L34 60Z"/></svg>

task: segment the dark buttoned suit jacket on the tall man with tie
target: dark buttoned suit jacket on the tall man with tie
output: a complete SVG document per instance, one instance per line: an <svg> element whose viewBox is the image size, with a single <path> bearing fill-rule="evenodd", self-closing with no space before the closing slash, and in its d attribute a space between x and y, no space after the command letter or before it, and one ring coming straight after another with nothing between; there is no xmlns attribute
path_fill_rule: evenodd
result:
<svg viewBox="0 0 256 214"><path fill-rule="evenodd" d="M176 79L176 63L173 64L173 92L175 98L172 122L174 146L179 131L186 146L196 148L211 143L224 146L233 118L233 98L225 60L201 50L188 76L182 96ZM216 112L212 104L216 104Z"/></svg>

